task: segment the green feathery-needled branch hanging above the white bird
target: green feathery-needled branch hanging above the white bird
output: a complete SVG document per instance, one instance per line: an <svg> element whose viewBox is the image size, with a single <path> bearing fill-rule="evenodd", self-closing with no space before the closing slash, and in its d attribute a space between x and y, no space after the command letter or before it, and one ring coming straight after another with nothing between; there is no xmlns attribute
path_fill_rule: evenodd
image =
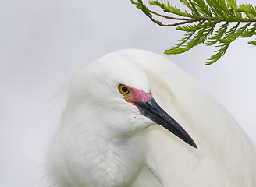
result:
<svg viewBox="0 0 256 187"><path fill-rule="evenodd" d="M159 26L176 26L176 30L185 33L165 54L180 54L198 44L219 48L208 58L206 65L218 61L237 38L256 35L256 7L248 3L237 5L235 0L180 0L187 11L180 10L166 0L150 0L150 5L162 9L164 14L160 14L148 9L142 0L131 2ZM174 23L162 23L153 18L154 16ZM256 40L251 40L248 44L256 45Z"/></svg>

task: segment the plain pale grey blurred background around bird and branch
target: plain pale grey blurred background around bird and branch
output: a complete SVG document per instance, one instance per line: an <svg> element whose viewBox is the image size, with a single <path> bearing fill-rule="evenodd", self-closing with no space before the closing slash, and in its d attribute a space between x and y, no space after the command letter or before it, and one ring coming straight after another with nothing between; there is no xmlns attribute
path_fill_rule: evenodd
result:
<svg viewBox="0 0 256 187"><path fill-rule="evenodd" d="M180 5L178 0L172 0ZM252 2L249 1L239 1ZM43 187L59 86L88 62L122 48L163 54L183 34L151 23L130 0L0 0L0 186ZM215 48L165 55L197 79L256 142L255 50L240 39L214 65Z"/></svg>

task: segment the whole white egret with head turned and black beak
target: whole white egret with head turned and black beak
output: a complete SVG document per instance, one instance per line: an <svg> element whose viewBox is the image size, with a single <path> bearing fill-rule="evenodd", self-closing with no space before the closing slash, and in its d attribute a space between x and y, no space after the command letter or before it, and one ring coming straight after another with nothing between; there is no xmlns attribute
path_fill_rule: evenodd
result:
<svg viewBox="0 0 256 187"><path fill-rule="evenodd" d="M58 187L253 187L256 148L194 79L129 49L69 81L48 171Z"/></svg>

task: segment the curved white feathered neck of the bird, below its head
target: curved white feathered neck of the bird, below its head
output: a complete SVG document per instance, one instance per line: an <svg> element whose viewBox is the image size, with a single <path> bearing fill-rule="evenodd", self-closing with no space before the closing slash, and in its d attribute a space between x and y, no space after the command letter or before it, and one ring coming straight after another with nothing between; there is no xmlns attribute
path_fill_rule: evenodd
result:
<svg viewBox="0 0 256 187"><path fill-rule="evenodd" d="M108 120L101 114L94 118L90 108L84 110L87 105L66 110L59 131L67 178L75 184L70 186L129 186L144 164L142 133L119 136L102 124Z"/></svg>

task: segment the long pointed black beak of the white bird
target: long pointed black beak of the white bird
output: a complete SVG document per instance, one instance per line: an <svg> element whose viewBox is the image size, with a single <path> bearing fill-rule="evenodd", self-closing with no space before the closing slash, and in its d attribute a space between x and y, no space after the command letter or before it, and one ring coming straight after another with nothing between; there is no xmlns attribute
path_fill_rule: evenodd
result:
<svg viewBox="0 0 256 187"><path fill-rule="evenodd" d="M178 136L184 142L194 146L197 149L197 145L188 133L171 117L169 116L158 104L154 98L151 97L149 102L136 102L137 108L140 109L142 114L152 121L162 125L165 129L168 129L174 135Z"/></svg>

